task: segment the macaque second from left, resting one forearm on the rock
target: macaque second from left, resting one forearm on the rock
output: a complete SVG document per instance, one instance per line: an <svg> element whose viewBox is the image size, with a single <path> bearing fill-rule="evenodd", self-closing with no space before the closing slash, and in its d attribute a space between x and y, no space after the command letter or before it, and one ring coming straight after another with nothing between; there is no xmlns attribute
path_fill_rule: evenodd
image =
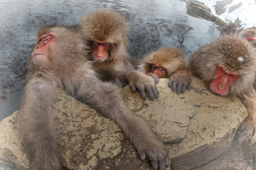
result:
<svg viewBox="0 0 256 170"><path fill-rule="evenodd" d="M82 38L90 46L89 59L103 81L118 80L123 85L139 89L142 98L145 90L151 100L158 98L159 91L154 79L134 70L127 53L128 23L119 13L102 9L87 14L80 21Z"/></svg>

